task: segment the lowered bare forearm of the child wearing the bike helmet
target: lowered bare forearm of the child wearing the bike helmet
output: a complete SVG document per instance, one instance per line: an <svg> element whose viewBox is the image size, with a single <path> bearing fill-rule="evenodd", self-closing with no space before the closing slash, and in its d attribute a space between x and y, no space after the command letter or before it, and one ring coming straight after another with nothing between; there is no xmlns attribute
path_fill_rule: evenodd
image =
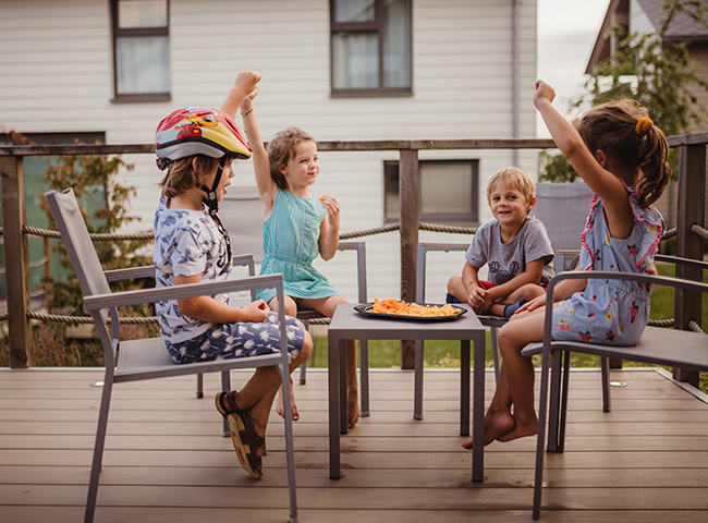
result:
<svg viewBox="0 0 708 523"><path fill-rule="evenodd" d="M199 283L200 281L202 275L174 277L175 285ZM270 311L263 300L256 300L243 308L237 308L217 302L211 296L183 297L178 300L178 307L185 316L211 324L233 324L239 321L260 324L265 321Z"/></svg>

